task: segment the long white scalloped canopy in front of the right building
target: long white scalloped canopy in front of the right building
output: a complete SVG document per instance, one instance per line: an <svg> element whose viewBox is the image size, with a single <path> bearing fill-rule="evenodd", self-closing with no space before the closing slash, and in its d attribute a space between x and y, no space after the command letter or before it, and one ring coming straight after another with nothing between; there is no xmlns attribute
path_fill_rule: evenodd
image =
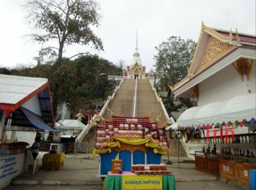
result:
<svg viewBox="0 0 256 190"><path fill-rule="evenodd" d="M256 118L255 93L239 95L222 102L191 107L179 116L178 126L216 125L223 122L251 121Z"/></svg>

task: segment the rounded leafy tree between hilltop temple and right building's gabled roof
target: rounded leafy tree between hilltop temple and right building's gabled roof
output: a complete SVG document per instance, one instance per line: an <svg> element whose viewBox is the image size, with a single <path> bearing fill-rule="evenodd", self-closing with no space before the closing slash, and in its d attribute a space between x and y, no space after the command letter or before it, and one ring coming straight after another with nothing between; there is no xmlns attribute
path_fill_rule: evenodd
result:
<svg viewBox="0 0 256 190"><path fill-rule="evenodd" d="M167 42L162 42L155 48L158 51L154 56L156 75L162 79L165 86L174 86L187 76L187 68L196 48L193 40L185 41L181 37L171 36Z"/></svg>

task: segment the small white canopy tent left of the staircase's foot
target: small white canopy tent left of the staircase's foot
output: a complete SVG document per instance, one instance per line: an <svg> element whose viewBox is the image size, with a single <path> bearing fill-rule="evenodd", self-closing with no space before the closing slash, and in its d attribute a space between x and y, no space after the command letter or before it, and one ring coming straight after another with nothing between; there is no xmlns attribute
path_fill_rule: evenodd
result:
<svg viewBox="0 0 256 190"><path fill-rule="evenodd" d="M81 121L77 119L62 119L55 123L56 128L73 128L74 130L83 130L86 127Z"/></svg>

